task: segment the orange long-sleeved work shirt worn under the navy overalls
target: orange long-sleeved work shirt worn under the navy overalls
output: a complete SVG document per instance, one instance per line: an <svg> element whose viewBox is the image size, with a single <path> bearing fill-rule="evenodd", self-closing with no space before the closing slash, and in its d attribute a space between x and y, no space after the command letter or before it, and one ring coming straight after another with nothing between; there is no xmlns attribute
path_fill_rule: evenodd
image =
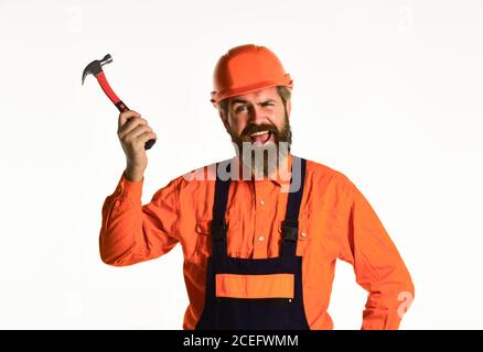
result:
<svg viewBox="0 0 483 352"><path fill-rule="evenodd" d="M159 257L180 243L190 299L183 329L191 330L204 307L215 180L185 176L171 180L142 205L144 179L130 182L122 174L103 207L99 245L106 264L124 266ZM232 180L225 215L229 256L279 256L288 200L282 186L279 178ZM368 292L362 329L399 327L401 305L412 300L414 285L395 244L356 186L342 173L311 161L297 255L303 257L303 304L312 330L333 328L328 306L337 258L353 265L357 283Z"/></svg>

